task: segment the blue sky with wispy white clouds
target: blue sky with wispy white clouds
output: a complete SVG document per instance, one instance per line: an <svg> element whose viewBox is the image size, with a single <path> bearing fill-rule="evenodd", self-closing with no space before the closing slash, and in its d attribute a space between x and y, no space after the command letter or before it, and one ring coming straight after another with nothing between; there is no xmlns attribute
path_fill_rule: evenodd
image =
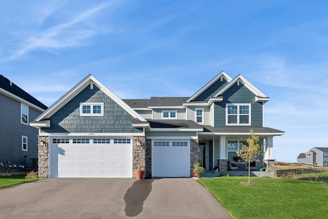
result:
<svg viewBox="0 0 328 219"><path fill-rule="evenodd" d="M221 70L268 95L277 161L328 147L327 1L1 1L0 74L50 106L88 74L191 96Z"/></svg>

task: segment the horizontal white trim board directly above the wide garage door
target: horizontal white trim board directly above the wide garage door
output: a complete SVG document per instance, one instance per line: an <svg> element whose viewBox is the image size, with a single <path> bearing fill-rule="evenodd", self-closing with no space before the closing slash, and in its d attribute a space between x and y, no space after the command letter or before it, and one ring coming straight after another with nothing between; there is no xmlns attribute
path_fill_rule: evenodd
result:
<svg viewBox="0 0 328 219"><path fill-rule="evenodd" d="M96 137L96 136L145 136L145 132L141 133L47 133L41 132L39 133L40 136L63 136L63 137L70 137L70 136L77 136L77 137Z"/></svg>

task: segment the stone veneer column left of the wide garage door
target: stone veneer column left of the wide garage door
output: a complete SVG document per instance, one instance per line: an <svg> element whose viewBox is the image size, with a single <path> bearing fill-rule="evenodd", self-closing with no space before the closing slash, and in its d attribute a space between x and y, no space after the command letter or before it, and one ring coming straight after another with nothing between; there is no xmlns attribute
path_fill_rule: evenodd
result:
<svg viewBox="0 0 328 219"><path fill-rule="evenodd" d="M38 175L40 178L49 177L49 136L38 136Z"/></svg>

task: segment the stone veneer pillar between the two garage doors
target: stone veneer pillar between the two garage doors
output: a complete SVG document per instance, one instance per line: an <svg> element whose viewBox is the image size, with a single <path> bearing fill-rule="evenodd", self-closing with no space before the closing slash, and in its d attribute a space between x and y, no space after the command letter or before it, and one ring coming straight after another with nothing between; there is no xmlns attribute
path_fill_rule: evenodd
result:
<svg viewBox="0 0 328 219"><path fill-rule="evenodd" d="M140 146L137 142L140 141ZM146 168L146 136L133 136L133 177L135 178L135 170L138 169L138 164ZM147 170L147 169L146 169ZM145 171L145 175L147 171Z"/></svg>

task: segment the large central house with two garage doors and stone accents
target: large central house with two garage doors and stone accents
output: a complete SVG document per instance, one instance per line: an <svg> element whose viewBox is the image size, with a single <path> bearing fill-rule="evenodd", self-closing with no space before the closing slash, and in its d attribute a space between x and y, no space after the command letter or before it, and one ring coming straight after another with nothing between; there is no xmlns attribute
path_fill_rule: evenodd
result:
<svg viewBox="0 0 328 219"><path fill-rule="evenodd" d="M89 74L31 122L39 176L133 177L141 164L146 177L190 177L197 161L228 171L250 129L274 171L273 137L284 132L263 127L269 99L223 71L190 97L149 99L120 99Z"/></svg>

